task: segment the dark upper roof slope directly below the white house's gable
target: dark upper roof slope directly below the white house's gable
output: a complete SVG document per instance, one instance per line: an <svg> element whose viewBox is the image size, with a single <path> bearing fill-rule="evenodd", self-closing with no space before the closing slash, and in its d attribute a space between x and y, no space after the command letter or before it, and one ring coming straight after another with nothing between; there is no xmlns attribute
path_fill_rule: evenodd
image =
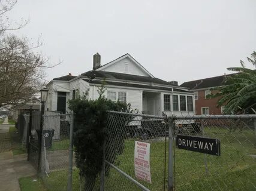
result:
<svg viewBox="0 0 256 191"><path fill-rule="evenodd" d="M120 80L124 80L124 81L147 82L147 83L153 83L153 84L171 85L171 86L179 87L177 85L170 84L169 82L164 81L159 78L130 75L130 74L126 74L126 73L91 70L91 71L82 73L81 76L87 76L88 78L92 78L92 79L94 79L94 78L120 79Z"/></svg>

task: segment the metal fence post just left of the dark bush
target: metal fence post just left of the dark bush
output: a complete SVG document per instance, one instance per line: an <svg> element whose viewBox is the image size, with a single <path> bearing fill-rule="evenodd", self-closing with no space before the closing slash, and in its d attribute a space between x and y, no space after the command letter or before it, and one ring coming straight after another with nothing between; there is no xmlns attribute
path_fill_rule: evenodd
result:
<svg viewBox="0 0 256 191"><path fill-rule="evenodd" d="M68 159L68 191L72 190L72 172L73 172L73 130L74 130L74 113L70 116L70 147Z"/></svg>

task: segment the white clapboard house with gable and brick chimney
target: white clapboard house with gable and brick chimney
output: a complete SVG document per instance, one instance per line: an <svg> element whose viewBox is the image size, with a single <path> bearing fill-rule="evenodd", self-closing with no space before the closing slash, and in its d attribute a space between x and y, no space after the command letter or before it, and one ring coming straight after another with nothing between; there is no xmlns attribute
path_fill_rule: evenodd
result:
<svg viewBox="0 0 256 191"><path fill-rule="evenodd" d="M99 97L97 92L105 80L107 91L104 93L112 101L130 103L132 109L149 115L194 115L194 93L188 88L179 87L174 82L155 78L138 61L125 54L100 65L100 54L94 55L93 70L80 76L62 76L47 84L49 96L46 108L66 113L67 101L82 96L88 91L92 100Z"/></svg>

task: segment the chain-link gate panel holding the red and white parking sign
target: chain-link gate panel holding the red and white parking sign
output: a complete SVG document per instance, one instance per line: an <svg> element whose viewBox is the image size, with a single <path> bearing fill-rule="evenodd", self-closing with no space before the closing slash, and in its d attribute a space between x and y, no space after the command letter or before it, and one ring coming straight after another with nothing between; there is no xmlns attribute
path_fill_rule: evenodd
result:
<svg viewBox="0 0 256 191"><path fill-rule="evenodd" d="M104 190L167 190L168 123L166 118L108 112ZM135 177L135 141L150 144L152 183Z"/></svg>

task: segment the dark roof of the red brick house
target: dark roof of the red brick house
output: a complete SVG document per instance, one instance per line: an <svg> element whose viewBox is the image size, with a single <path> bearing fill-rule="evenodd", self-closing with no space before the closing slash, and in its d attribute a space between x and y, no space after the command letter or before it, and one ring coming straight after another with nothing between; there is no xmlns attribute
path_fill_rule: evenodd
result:
<svg viewBox="0 0 256 191"><path fill-rule="evenodd" d="M186 88L189 88L190 90L218 87L218 86L224 85L226 76L232 76L232 75L236 75L236 73L184 82L183 84L180 85L180 87L186 87Z"/></svg>

